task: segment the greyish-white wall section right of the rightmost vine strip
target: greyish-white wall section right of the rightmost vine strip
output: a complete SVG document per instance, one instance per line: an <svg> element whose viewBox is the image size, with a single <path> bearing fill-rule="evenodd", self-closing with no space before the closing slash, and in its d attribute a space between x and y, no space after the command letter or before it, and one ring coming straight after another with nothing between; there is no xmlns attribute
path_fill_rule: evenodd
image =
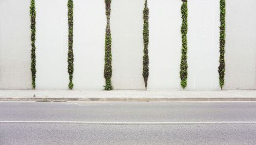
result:
<svg viewBox="0 0 256 145"><path fill-rule="evenodd" d="M256 1L226 0L224 89L256 89Z"/></svg>

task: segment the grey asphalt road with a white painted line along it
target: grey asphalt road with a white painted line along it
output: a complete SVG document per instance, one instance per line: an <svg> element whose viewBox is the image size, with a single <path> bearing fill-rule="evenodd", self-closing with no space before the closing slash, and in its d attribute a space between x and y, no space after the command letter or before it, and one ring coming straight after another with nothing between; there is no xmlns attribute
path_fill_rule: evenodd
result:
<svg viewBox="0 0 256 145"><path fill-rule="evenodd" d="M255 144L256 102L0 102L0 144Z"/></svg>

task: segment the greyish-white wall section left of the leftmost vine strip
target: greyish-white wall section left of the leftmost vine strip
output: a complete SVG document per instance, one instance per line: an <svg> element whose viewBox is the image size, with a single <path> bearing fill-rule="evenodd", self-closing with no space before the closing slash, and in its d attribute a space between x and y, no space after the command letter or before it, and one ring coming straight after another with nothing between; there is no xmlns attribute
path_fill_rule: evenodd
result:
<svg viewBox="0 0 256 145"><path fill-rule="evenodd" d="M0 89L31 89L30 1L0 0Z"/></svg>

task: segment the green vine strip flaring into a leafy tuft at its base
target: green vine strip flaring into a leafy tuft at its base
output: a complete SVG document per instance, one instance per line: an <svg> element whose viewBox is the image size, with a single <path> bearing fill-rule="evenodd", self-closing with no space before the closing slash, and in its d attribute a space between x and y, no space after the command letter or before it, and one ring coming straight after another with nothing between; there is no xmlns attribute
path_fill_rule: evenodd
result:
<svg viewBox="0 0 256 145"><path fill-rule="evenodd" d="M111 83L112 77L112 54L111 54L111 31L110 31L110 12L111 12L111 0L105 0L106 9L106 32L105 32L105 65L104 65L104 78L105 85L104 90L113 90Z"/></svg>

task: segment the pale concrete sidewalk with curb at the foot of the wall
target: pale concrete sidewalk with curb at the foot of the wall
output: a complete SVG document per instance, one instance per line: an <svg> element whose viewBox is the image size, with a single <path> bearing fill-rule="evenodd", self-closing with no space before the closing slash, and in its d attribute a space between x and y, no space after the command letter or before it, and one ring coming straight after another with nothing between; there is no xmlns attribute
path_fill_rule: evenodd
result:
<svg viewBox="0 0 256 145"><path fill-rule="evenodd" d="M0 90L0 101L256 101L256 90L55 91Z"/></svg>

